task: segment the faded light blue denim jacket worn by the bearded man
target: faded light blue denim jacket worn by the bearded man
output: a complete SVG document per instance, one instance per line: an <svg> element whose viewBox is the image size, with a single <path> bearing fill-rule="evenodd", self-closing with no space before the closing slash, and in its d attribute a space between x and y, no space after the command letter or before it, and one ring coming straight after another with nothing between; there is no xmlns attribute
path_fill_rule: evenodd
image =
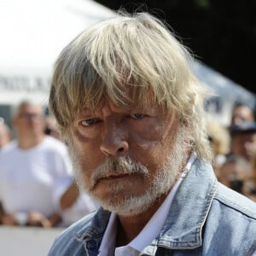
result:
<svg viewBox="0 0 256 256"><path fill-rule="evenodd" d="M102 208L55 239L49 256L97 255L110 212ZM218 183L196 159L181 183L159 236L141 255L246 256L256 250L256 203Z"/></svg>

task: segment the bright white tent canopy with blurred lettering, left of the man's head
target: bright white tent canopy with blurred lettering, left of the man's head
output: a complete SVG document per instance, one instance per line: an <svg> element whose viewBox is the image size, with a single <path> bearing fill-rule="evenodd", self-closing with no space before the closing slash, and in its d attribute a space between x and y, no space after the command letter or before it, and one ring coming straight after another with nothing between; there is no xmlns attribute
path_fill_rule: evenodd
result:
<svg viewBox="0 0 256 256"><path fill-rule="evenodd" d="M47 103L61 49L86 26L114 13L90 0L0 0L0 104Z"/></svg>

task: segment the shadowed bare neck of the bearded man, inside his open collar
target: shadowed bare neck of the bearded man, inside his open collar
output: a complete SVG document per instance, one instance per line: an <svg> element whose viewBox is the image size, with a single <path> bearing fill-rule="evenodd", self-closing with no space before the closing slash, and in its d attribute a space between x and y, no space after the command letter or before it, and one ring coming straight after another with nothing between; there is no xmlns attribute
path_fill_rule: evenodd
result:
<svg viewBox="0 0 256 256"><path fill-rule="evenodd" d="M143 230L149 219L154 215L154 212L156 212L162 202L165 201L168 193L161 195L160 199L156 201L152 207L139 215L131 217L118 216L116 247L125 246Z"/></svg>

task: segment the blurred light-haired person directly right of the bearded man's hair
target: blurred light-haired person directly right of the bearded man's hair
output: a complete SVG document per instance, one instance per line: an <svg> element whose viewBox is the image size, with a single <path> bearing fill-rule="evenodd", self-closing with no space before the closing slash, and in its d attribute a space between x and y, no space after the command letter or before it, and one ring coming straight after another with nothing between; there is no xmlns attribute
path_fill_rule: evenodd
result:
<svg viewBox="0 0 256 256"><path fill-rule="evenodd" d="M230 133L224 125L218 122L207 122L208 140L214 155L212 167L218 177L218 169L226 160L226 154L230 152Z"/></svg>

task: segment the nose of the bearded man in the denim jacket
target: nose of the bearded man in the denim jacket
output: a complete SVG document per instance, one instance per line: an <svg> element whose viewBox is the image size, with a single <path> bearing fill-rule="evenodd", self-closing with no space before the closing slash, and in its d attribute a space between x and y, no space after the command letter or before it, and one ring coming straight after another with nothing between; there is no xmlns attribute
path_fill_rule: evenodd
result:
<svg viewBox="0 0 256 256"><path fill-rule="evenodd" d="M127 152L129 145L127 131L122 124L106 122L102 132L101 150L106 155L119 155Z"/></svg>

